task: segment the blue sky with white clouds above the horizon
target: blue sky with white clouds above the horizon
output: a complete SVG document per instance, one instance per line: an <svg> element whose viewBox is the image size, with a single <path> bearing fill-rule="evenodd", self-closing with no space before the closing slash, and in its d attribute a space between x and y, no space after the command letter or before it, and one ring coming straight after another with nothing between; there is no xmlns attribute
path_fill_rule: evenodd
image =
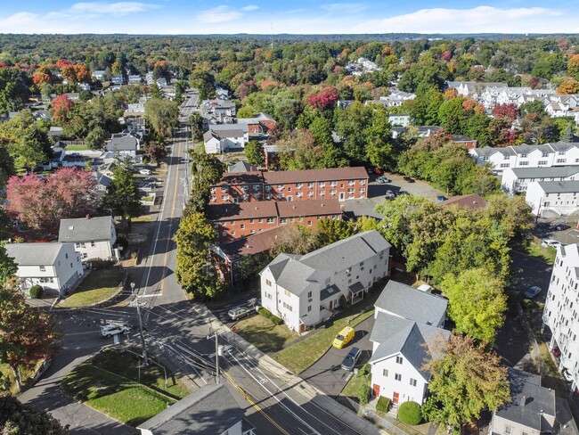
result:
<svg viewBox="0 0 579 435"><path fill-rule="evenodd" d="M579 33L579 0L0 3L0 33Z"/></svg>

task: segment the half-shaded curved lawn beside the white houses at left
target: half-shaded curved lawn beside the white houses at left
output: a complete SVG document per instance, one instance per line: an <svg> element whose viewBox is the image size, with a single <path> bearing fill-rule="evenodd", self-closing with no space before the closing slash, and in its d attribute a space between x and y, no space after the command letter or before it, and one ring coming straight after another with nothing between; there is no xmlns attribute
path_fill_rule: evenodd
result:
<svg viewBox="0 0 579 435"><path fill-rule="evenodd" d="M118 291L123 274L117 267L96 269L86 276L67 299L61 300L57 308L78 308L97 304L110 299Z"/></svg>

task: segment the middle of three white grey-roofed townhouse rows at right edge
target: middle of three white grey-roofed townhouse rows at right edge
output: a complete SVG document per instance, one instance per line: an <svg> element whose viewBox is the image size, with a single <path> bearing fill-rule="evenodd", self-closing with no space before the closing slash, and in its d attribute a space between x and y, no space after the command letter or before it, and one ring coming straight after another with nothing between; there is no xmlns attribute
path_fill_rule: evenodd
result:
<svg viewBox="0 0 579 435"><path fill-rule="evenodd" d="M525 193L534 181L575 181L579 180L579 166L554 168L506 168L502 171L501 187L505 193Z"/></svg>

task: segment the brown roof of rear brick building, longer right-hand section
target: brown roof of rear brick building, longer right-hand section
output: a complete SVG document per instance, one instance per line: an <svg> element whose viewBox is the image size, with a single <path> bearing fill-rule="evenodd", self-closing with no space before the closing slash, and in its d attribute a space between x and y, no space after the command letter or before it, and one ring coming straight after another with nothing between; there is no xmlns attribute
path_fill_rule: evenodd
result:
<svg viewBox="0 0 579 435"><path fill-rule="evenodd" d="M368 179L366 168L330 168L330 169L306 169L306 170L280 170L264 172L267 185L279 185L283 183L308 183L313 181L333 180L362 180Z"/></svg>

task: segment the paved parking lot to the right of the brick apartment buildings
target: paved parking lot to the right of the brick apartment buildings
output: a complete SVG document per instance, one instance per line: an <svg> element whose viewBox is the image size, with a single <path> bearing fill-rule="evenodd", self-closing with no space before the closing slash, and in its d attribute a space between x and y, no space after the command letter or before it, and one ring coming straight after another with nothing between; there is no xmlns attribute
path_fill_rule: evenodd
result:
<svg viewBox="0 0 579 435"><path fill-rule="evenodd" d="M387 201L385 197L387 190L391 190L396 194L402 190L412 195L423 196L432 201L436 201L436 196L438 195L446 195L445 192L435 189L424 181L415 180L414 183L408 183L404 181L404 176L388 172L385 172L384 176L387 176L391 182L380 184L376 181L371 181L370 185L368 185L368 198L343 202L344 209L348 215L354 217L372 216L380 219L383 218L382 215L374 211L374 208L378 204ZM371 179L375 179L375 176L371 176Z"/></svg>

